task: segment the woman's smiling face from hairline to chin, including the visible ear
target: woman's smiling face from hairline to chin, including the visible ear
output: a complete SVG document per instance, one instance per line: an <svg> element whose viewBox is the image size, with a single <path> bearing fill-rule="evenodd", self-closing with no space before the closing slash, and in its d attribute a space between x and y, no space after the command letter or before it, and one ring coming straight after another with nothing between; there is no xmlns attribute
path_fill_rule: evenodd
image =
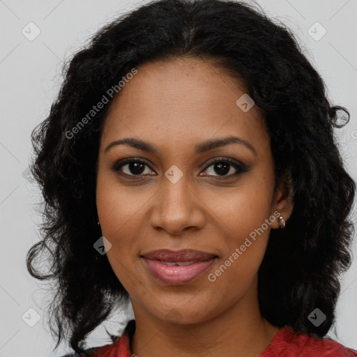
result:
<svg viewBox="0 0 357 357"><path fill-rule="evenodd" d="M245 93L212 63L175 59L138 67L112 102L96 202L109 263L137 314L194 324L257 301L269 232L279 227L277 211L285 219L291 211L285 189L273 195L270 138ZM209 144L228 137L240 140ZM146 145L106 151L128 138ZM144 259L160 249L215 258L186 257L192 266Z"/></svg>

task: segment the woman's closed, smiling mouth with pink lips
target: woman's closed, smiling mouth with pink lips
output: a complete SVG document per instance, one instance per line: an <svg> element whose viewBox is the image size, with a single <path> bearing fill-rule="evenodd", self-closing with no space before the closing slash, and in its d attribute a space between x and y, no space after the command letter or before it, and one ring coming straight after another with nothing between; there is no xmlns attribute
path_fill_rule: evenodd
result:
<svg viewBox="0 0 357 357"><path fill-rule="evenodd" d="M140 257L154 278L169 285L197 280L218 259L217 255L199 250L154 250Z"/></svg>

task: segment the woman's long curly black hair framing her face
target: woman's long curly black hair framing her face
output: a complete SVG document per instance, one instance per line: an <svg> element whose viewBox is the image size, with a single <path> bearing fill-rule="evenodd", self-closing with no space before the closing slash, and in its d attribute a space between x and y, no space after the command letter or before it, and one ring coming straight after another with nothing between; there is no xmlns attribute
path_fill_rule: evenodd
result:
<svg viewBox="0 0 357 357"><path fill-rule="evenodd" d="M294 192L294 211L284 229L271 230L259 268L261 314L275 326L318 337L334 322L354 236L349 214L356 183L334 136L334 128L349 121L348 110L331 105L294 33L256 3L160 0L105 25L74 54L49 116L31 133L30 169L43 195L44 222L26 264L33 277L56 282L49 309L55 349L66 338L83 353L86 335L128 302L106 255L93 249L101 236L96 174L100 133L114 98L109 93L119 93L119 81L132 68L183 56L214 59L243 79L264 113L275 185L289 178ZM103 96L107 103L89 118ZM50 272L40 273L33 264L48 250ZM316 307L326 314L319 327L307 319Z"/></svg>

